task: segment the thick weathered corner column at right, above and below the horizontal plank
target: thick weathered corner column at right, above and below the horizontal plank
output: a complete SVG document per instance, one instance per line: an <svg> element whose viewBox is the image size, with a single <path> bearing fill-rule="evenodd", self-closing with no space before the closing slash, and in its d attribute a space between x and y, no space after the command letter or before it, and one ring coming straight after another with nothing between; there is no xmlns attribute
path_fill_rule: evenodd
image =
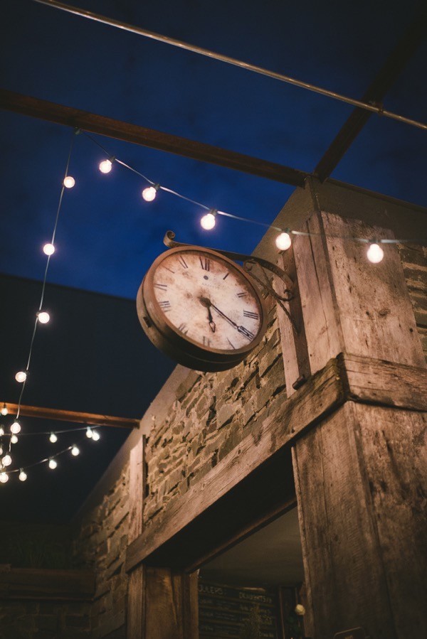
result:
<svg viewBox="0 0 427 639"><path fill-rule="evenodd" d="M306 230L320 235L293 242L304 340L292 340L295 329L278 309L283 338L292 340L287 383L307 362L313 374L339 353L371 358L366 374L357 373L371 405L348 392L292 446L306 633L332 639L360 627L374 639L427 636L426 413L399 408L400 389L394 402L371 386L371 367L394 363L410 401L407 365L426 368L399 255L386 245L383 262L371 264L367 245L332 237L391 237L357 220L319 212Z"/></svg>

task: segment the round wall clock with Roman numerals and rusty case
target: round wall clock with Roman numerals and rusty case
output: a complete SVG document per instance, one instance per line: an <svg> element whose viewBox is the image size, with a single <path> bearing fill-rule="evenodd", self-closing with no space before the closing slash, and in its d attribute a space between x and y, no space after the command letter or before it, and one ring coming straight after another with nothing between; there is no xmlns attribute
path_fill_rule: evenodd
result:
<svg viewBox="0 0 427 639"><path fill-rule="evenodd" d="M244 270L211 249L183 246L154 260L137 294L152 343L195 370L227 370L265 333L263 298Z"/></svg>

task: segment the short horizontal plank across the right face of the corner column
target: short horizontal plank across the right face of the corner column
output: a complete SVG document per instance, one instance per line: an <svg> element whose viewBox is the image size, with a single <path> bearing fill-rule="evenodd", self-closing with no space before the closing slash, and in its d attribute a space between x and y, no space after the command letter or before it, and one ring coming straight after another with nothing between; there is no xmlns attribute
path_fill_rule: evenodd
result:
<svg viewBox="0 0 427 639"><path fill-rule="evenodd" d="M342 362L349 385L348 397L356 402L427 411L427 370L344 355Z"/></svg>

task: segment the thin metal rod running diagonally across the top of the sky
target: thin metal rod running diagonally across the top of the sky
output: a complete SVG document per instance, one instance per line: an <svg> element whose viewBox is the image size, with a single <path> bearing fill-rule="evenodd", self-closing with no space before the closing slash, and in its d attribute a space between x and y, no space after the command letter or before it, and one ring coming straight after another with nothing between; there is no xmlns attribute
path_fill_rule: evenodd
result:
<svg viewBox="0 0 427 639"><path fill-rule="evenodd" d="M81 16L83 18L89 18L90 20L94 20L95 22L100 22L102 24L107 24L109 26L115 26L119 29L123 29L123 31L130 31L131 33L137 33L137 35L144 36L145 38L150 38L151 40L157 40L165 44L170 44L172 46L179 47L186 51L191 51L192 53L199 53L199 55L204 55L206 58L219 60L220 62L225 62L229 65L240 67L241 69L253 71L253 73L259 73L260 75L273 77L275 80L280 80L280 82L288 82L288 84L294 85L295 87L307 89L308 91L319 93L320 95L325 95L326 97L332 97L334 100L339 100L340 102L346 102L347 104L352 104L353 107L360 107L361 109L367 109L367 111L371 111L379 115L383 115L384 117L389 117L391 119L398 120L399 122L404 122L405 124L411 124L411 126L418 127L418 129L427 130L427 124L423 124L423 122L417 122L416 120L410 119L408 117L404 117L403 115L399 115L391 111L386 111L386 109L384 109L382 104L369 104L368 102L362 102L361 100L354 100L354 98L352 97L347 97L345 95L341 95L334 91L322 89L322 87L317 87L316 85L312 85L310 84L310 82L302 82L301 80L295 80L295 78L290 77L289 75L276 73L275 71L270 71L263 67L258 67L258 65L253 65L247 62L243 62L243 60L238 60L237 58L231 58L230 56L223 55L222 53L216 53L215 51L211 51L203 47L189 44L181 40L176 40L176 38L169 38L169 36L163 36L161 33L148 31L147 29L144 29L142 27L138 27L133 24L122 22L120 20L115 20L114 18L107 18L107 16L95 14L93 13L93 11L86 11L85 9L79 9L78 7L63 4L62 2L57 2L56 0L34 0L34 1L38 2L39 4L46 4L48 6L53 6L55 9L66 11L68 14L74 14L75 16Z"/></svg>

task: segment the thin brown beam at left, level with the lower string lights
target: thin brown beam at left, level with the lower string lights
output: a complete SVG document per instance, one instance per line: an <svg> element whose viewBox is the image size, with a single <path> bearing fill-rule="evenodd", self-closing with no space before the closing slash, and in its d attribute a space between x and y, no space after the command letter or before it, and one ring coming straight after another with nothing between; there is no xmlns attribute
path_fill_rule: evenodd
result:
<svg viewBox="0 0 427 639"><path fill-rule="evenodd" d="M0 402L10 415L16 415L18 404ZM110 415L96 415L93 413L82 413L72 410L59 410L56 408L42 408L41 406L22 406L19 414L23 417L41 417L42 419L56 419L58 421L74 421L76 424L90 424L90 426L113 426L114 428L134 429L139 426L139 419L128 417L111 417Z"/></svg>

